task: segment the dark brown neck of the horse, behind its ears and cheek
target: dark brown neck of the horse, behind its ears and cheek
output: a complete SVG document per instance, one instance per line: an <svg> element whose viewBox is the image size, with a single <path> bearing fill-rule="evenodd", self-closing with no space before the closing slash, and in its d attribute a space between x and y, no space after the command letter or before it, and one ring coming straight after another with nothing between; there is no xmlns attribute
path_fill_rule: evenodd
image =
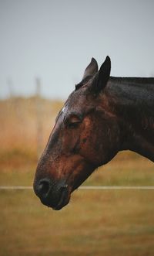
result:
<svg viewBox="0 0 154 256"><path fill-rule="evenodd" d="M154 78L111 78L112 107L122 129L122 149L154 162Z"/></svg>

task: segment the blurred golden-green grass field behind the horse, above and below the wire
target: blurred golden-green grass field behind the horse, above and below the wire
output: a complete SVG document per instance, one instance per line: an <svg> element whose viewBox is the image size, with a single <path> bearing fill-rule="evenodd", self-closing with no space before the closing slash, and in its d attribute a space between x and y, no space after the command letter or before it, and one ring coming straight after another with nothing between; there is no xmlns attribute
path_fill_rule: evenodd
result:
<svg viewBox="0 0 154 256"><path fill-rule="evenodd" d="M32 186L37 164L35 98L0 102L0 185ZM61 102L42 100L42 148ZM154 165L119 153L84 185L154 186ZM32 190L1 190L0 256L154 255L154 190L77 190L60 211Z"/></svg>

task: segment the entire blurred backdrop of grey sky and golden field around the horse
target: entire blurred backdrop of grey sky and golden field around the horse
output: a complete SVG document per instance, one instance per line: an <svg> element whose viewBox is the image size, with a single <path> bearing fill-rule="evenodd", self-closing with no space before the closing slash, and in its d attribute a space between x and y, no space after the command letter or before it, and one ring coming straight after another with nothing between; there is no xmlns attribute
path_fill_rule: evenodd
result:
<svg viewBox="0 0 154 256"><path fill-rule="evenodd" d="M92 56L112 76L154 77L152 0L0 0L0 186L32 186L55 117ZM153 186L153 163L121 152L84 185ZM0 255L154 254L152 190L78 190L59 212L0 190Z"/></svg>

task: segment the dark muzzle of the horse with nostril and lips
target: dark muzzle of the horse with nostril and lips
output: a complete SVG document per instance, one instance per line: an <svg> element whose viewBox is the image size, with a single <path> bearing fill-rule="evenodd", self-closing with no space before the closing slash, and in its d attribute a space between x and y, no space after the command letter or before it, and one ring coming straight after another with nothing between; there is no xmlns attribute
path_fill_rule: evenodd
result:
<svg viewBox="0 0 154 256"><path fill-rule="evenodd" d="M34 191L45 206L60 210L69 203L69 187L64 181L53 183L50 179L40 179L34 183Z"/></svg>

